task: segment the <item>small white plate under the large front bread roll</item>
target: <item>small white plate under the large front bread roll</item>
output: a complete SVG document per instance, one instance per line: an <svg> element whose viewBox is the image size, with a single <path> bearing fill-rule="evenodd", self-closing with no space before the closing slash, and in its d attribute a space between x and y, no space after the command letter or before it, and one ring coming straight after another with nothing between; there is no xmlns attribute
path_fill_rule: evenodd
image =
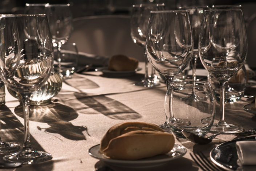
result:
<svg viewBox="0 0 256 171"><path fill-rule="evenodd" d="M174 160L182 157L186 154L187 150L184 146L174 144L172 150L166 154L157 155L150 158L140 159L140 160L117 160L110 159L106 155L102 154L99 151L99 144L93 146L89 149L89 155L106 162L107 164L111 164L119 167L132 167L132 168L140 168L140 167L154 167L160 166L170 160Z"/></svg>

